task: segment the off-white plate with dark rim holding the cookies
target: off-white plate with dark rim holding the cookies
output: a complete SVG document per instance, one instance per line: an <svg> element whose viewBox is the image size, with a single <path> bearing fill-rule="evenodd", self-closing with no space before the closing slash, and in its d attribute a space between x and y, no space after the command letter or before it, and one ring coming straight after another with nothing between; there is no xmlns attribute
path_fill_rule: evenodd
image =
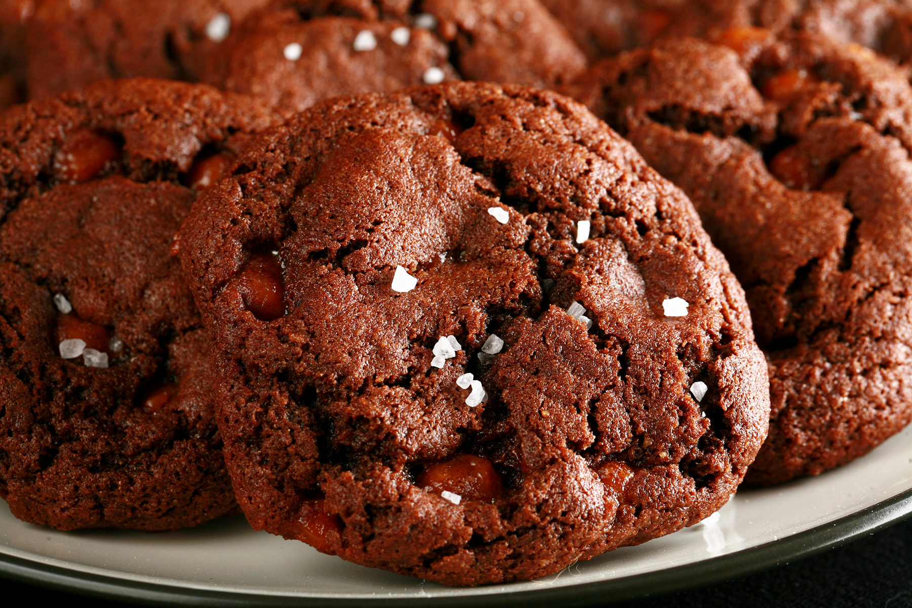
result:
<svg viewBox="0 0 912 608"><path fill-rule="evenodd" d="M692 587L787 562L912 514L912 428L813 479L744 489L706 522L546 579L464 589L362 568L241 517L166 533L59 532L0 501L0 573L70 591L167 603L565 605ZM522 597L518 597L519 593ZM409 602L410 601L410 602Z"/></svg>

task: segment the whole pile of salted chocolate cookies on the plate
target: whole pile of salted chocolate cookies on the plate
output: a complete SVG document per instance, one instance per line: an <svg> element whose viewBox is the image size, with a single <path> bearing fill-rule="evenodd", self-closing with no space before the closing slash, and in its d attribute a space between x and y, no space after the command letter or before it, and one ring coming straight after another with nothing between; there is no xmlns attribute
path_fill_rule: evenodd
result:
<svg viewBox="0 0 912 608"><path fill-rule="evenodd" d="M912 418L912 3L2 0L0 36L21 520L240 510L507 582Z"/></svg>

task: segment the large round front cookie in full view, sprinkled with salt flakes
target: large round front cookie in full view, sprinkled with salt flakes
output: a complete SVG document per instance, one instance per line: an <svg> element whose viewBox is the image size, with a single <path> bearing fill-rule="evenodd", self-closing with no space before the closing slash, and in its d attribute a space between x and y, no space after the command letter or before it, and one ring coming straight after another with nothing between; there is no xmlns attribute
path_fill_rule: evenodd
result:
<svg viewBox="0 0 912 608"><path fill-rule="evenodd" d="M736 489L768 417L741 287L579 104L477 83L332 99L239 163L181 262L255 529L482 584Z"/></svg>

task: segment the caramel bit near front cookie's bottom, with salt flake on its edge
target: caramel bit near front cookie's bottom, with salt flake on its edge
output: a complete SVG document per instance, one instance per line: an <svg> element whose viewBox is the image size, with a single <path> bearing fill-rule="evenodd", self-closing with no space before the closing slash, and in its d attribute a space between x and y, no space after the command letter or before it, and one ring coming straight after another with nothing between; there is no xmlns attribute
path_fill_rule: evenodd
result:
<svg viewBox="0 0 912 608"><path fill-rule="evenodd" d="M471 454L457 454L426 466L418 478L418 485L454 504L461 500L492 502L504 492L501 476L491 460ZM444 493L450 496L444 496Z"/></svg>

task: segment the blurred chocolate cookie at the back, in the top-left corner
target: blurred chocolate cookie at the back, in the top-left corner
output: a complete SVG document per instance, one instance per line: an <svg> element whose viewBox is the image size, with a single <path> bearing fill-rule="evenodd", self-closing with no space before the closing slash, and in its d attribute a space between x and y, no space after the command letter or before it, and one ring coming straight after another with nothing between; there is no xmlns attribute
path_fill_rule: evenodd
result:
<svg viewBox="0 0 912 608"><path fill-rule="evenodd" d="M36 0L26 27L30 98L104 78L199 79L198 57L269 0Z"/></svg>

